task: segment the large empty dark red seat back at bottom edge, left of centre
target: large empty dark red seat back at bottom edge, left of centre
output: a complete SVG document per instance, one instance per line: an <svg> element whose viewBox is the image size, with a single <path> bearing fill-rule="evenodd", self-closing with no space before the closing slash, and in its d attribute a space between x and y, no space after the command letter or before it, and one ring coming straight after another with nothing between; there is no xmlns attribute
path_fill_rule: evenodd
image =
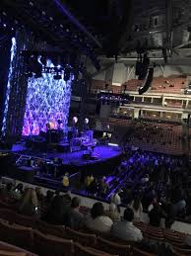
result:
<svg viewBox="0 0 191 256"><path fill-rule="evenodd" d="M74 253L72 240L45 235L37 230L33 230L33 242L39 256L70 256Z"/></svg>

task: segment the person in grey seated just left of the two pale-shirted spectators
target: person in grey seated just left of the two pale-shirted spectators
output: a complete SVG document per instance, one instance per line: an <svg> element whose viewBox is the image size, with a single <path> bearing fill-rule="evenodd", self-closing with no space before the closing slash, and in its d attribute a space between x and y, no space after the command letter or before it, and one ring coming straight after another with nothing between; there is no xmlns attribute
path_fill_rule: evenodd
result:
<svg viewBox="0 0 191 256"><path fill-rule="evenodd" d="M72 199L71 208L69 211L71 218L71 227L73 229L80 229L84 223L84 215L79 212L80 199L75 197Z"/></svg>

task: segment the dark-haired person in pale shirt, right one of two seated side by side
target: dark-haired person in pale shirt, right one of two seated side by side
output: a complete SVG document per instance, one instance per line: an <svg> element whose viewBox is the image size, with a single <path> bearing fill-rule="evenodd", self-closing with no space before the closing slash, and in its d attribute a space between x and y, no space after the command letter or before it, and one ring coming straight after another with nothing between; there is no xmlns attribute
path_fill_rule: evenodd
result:
<svg viewBox="0 0 191 256"><path fill-rule="evenodd" d="M142 232L139 228L134 226L133 218L134 213L133 210L127 208L124 211L124 220L123 221L116 221L113 223L112 226L112 235L125 240L125 241L132 241L132 242L140 242L143 239Z"/></svg>

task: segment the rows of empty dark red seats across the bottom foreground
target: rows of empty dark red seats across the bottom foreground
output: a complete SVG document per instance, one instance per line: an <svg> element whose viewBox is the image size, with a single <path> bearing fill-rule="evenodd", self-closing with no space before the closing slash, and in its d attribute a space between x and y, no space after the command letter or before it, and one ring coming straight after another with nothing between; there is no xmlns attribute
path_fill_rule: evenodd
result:
<svg viewBox="0 0 191 256"><path fill-rule="evenodd" d="M175 255L191 255L188 254L191 253L190 248L183 244L185 234L153 227L143 222L137 222L135 225L142 230L145 238L170 243L177 251ZM38 255L47 256L155 255L140 250L135 244L107 235L90 233L90 230L76 231L69 227L48 224L23 215L18 218L17 213L6 209L0 210L0 240L30 251L34 250ZM185 252L187 254L183 254Z"/></svg>

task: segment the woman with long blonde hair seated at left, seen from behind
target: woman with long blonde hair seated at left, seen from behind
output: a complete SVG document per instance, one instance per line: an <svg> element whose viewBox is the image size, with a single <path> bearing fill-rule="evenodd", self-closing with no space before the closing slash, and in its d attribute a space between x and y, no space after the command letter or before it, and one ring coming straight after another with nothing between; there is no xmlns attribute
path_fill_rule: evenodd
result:
<svg viewBox="0 0 191 256"><path fill-rule="evenodd" d="M36 192L32 188L25 191L19 204L19 213L24 215L39 213Z"/></svg>

